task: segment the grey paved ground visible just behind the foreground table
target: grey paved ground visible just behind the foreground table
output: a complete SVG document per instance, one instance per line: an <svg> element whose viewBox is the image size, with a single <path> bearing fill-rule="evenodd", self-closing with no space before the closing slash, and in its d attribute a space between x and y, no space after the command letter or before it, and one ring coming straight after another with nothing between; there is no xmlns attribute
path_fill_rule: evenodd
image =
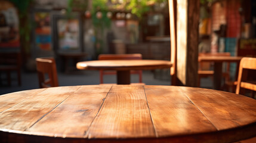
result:
<svg viewBox="0 0 256 143"><path fill-rule="evenodd" d="M154 74L155 73L155 74ZM4 75L2 75L4 76ZM16 77L13 73L12 77ZM171 85L170 77L168 77L168 71L143 71L143 83L146 85ZM29 89L39 88L38 76L36 72L26 73L21 75L21 86L18 86L16 80L12 81L11 86L0 85L0 95L10 92L24 91ZM60 86L75 86L75 85L98 85L99 73L98 71L73 71L72 73L58 73L58 82ZM131 75L131 82L138 82L138 75ZM4 81L2 81L4 83ZM104 83L116 83L115 75L104 76ZM210 88L212 86L211 79L201 80L203 88Z"/></svg>

